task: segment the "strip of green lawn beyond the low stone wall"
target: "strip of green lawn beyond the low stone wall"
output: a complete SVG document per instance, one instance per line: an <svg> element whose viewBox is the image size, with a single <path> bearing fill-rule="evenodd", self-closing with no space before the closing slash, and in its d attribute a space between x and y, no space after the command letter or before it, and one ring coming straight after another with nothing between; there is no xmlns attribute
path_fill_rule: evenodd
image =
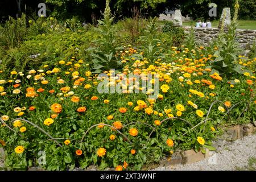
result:
<svg viewBox="0 0 256 182"><path fill-rule="evenodd" d="M195 26L195 21L190 22L183 22L183 26ZM217 28L218 27L218 21L215 20L212 22L212 27ZM238 20L238 29L250 29L250 30L256 30L256 20Z"/></svg>

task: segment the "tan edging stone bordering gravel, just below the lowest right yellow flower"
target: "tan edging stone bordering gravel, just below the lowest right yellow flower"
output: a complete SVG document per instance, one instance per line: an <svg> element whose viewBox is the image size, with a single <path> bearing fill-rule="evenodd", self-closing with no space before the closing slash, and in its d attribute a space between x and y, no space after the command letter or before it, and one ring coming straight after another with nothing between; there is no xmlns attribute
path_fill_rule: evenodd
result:
<svg viewBox="0 0 256 182"><path fill-rule="evenodd" d="M205 158L202 152L195 152L194 150L187 150L181 152L182 164L191 164L203 160Z"/></svg>

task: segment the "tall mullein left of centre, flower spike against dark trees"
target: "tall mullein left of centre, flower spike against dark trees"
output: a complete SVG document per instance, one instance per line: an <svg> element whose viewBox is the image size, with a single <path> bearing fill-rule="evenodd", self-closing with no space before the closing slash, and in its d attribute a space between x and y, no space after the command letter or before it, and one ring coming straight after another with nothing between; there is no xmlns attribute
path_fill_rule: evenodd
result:
<svg viewBox="0 0 256 182"><path fill-rule="evenodd" d="M115 47L115 27L109 7L110 0L106 0L104 19L98 20L96 31L100 33L100 38L95 40L96 47L87 49L91 51L90 56L94 63L94 73L109 71L110 69L121 68L121 61L118 60L117 51L121 47Z"/></svg>

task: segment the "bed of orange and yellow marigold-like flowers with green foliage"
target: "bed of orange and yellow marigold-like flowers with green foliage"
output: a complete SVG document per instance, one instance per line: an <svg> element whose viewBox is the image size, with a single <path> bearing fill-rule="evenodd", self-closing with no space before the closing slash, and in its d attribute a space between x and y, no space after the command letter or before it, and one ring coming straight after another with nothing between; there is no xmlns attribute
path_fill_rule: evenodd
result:
<svg viewBox="0 0 256 182"><path fill-rule="evenodd" d="M65 170L94 163L100 169L141 169L176 150L214 150L210 141L221 123L255 119L255 73L221 77L208 68L214 56L204 47L172 47L165 59L155 61L142 51L127 47L117 54L124 67L109 85L129 73L157 73L155 100L151 92L129 88L99 93L103 81L76 57L36 71L0 71L5 167ZM249 68L254 61L241 56L239 64Z"/></svg>

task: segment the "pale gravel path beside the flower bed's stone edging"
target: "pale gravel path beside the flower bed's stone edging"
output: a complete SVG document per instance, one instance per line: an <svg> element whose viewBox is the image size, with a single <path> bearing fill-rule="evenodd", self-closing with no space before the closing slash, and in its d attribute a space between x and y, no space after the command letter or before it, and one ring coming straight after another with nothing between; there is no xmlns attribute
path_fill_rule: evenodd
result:
<svg viewBox="0 0 256 182"><path fill-rule="evenodd" d="M256 158L256 135L243 137L221 148L219 152L212 152L209 159L185 165L158 167L156 171L212 171L237 170L246 168L248 160Z"/></svg>

